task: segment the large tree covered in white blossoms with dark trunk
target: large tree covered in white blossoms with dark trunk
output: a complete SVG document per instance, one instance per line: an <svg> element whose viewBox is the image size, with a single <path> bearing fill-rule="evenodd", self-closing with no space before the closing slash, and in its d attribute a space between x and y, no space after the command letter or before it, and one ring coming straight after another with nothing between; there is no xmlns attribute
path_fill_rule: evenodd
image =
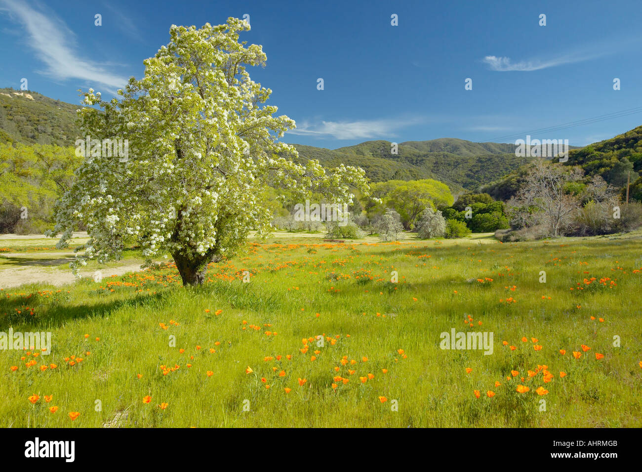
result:
<svg viewBox="0 0 642 472"><path fill-rule="evenodd" d="M268 187L347 204L351 186L369 195L360 168L326 171L318 161L288 159L297 151L278 139L295 123L261 106L272 91L245 69L266 61L261 46L238 41L249 29L235 18L200 29L171 26L169 44L144 61L144 77L130 78L119 98L84 94L85 104L102 109L79 110L85 135L127 139L128 156L87 153L58 202L49 233L63 232L58 247L80 223L89 232L76 273L87 259L121 258L124 243L134 241L148 261L171 254L183 284L202 284L208 263L232 256L250 229L269 234Z"/></svg>

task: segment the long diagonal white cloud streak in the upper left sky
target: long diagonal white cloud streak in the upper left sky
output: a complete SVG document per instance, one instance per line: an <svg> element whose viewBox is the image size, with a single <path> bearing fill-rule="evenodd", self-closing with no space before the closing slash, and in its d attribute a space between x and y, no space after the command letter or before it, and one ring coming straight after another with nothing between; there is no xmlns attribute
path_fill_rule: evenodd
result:
<svg viewBox="0 0 642 472"><path fill-rule="evenodd" d="M26 30L28 45L46 65L41 73L58 80L86 80L103 86L112 94L125 87L127 78L110 73L103 64L81 57L76 50L76 35L53 13L36 10L24 0L0 0L0 10L8 12Z"/></svg>

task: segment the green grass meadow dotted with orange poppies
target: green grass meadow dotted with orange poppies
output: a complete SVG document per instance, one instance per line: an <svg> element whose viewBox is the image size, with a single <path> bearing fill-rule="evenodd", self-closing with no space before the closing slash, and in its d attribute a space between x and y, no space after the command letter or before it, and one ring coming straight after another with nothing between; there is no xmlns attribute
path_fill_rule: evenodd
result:
<svg viewBox="0 0 642 472"><path fill-rule="evenodd" d="M275 234L208 274L198 288L162 267L0 291L0 331L53 344L0 351L0 426L642 426L639 232ZM492 332L493 353L440 349L453 328Z"/></svg>

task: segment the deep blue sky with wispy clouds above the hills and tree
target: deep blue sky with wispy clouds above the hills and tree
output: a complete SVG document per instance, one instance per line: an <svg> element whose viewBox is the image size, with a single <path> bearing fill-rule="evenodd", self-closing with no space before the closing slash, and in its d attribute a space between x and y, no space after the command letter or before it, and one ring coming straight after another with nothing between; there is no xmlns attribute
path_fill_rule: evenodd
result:
<svg viewBox="0 0 642 472"><path fill-rule="evenodd" d="M640 0L0 0L0 87L19 89L24 77L30 90L70 103L79 88L107 98L143 74L171 24L245 13L252 30L241 39L268 57L250 75L297 122L288 143L514 142L535 131L582 146L642 124L636 113L537 132L642 107Z"/></svg>

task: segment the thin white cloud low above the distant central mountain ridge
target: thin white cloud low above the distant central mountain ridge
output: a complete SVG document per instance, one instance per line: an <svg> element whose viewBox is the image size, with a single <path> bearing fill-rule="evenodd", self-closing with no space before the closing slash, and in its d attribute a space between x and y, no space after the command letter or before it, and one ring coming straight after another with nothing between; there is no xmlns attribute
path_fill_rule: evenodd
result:
<svg viewBox="0 0 642 472"><path fill-rule="evenodd" d="M335 139L389 138L395 136L395 130L424 122L424 118L321 121L320 123L305 121L288 133L316 137L332 136Z"/></svg>

